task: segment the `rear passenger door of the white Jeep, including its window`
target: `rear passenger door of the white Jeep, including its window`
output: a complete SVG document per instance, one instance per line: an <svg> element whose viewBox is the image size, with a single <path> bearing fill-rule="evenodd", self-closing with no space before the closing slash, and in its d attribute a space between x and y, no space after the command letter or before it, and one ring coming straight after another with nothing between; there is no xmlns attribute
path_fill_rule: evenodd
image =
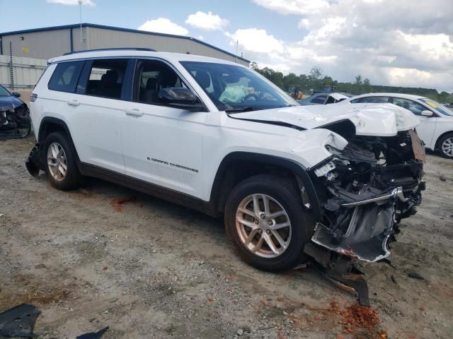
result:
<svg viewBox="0 0 453 339"><path fill-rule="evenodd" d="M127 59L86 61L76 95L69 100L74 112L71 135L81 162L124 174L121 123L127 107Z"/></svg>

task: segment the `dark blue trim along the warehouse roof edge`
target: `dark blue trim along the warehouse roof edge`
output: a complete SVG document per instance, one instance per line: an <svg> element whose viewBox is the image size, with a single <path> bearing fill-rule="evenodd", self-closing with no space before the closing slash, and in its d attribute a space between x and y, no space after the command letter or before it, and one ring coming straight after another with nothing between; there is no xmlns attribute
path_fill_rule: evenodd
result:
<svg viewBox="0 0 453 339"><path fill-rule="evenodd" d="M185 40L193 40L199 44L204 44L207 47L217 49L217 51L230 55L231 57L236 57L235 54L225 51L219 47L215 47L212 44L208 44L202 40L195 39L194 37L186 37L184 35L173 35L173 34L166 34L166 33L158 33L158 32L148 32L146 30L133 30L131 28L121 28L115 26L107 26L107 25L98 25L96 23L82 23L82 27L91 27L91 28L100 28L104 30L117 30L119 32L131 32L131 33L139 33L139 34L147 34L147 35L156 35L160 37L176 37L178 39L185 39ZM13 35L13 34L25 34L25 33L34 33L34 32L45 32L46 30L65 30L69 28L80 28L80 24L74 25L61 25L61 26L51 26L51 27L42 27L42 28L34 28L30 30L16 30L13 32L0 32L0 37L4 35ZM86 51L81 51L86 52ZM243 57L237 57L238 59L246 62L251 62L250 60L244 59Z"/></svg>

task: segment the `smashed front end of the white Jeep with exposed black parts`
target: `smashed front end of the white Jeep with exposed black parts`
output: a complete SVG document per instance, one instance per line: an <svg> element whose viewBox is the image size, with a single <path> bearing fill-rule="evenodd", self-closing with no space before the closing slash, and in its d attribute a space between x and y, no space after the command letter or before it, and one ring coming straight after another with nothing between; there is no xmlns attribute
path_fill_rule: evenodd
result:
<svg viewBox="0 0 453 339"><path fill-rule="evenodd" d="M306 252L328 278L354 288L360 299L353 285L361 279L352 274L352 261L389 256L398 222L421 203L425 148L415 130L344 137L348 145L341 150L326 145L332 156L311 171L323 213L311 240L322 247L311 243ZM367 296L360 302L367 304Z"/></svg>

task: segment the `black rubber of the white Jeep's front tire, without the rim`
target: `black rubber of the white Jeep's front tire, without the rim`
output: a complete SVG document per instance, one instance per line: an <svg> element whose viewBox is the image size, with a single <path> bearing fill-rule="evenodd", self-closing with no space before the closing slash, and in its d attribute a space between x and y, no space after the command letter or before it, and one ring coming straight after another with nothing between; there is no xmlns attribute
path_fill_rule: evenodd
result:
<svg viewBox="0 0 453 339"><path fill-rule="evenodd" d="M291 222L291 240L288 248L280 256L276 258L263 258L251 253L246 246L241 242L239 234L236 230L236 210L239 203L248 195L251 194L266 194L285 208L285 211ZM251 266L269 271L282 271L294 267L300 261L303 261L306 256L303 253L304 245L309 242L311 233L313 232L313 222L304 211L302 199L294 196L297 190L292 191L285 184L280 184L278 181L248 181L236 186L226 202L225 207L225 227L231 242L241 257Z"/></svg>

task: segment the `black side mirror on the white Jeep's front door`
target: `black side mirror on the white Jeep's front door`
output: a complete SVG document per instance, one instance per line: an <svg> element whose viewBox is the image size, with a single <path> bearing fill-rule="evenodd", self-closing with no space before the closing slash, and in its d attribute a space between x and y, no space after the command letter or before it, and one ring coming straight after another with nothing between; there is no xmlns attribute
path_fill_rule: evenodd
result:
<svg viewBox="0 0 453 339"><path fill-rule="evenodd" d="M180 109L200 111L205 108L197 96L188 88L171 87L159 90L159 102Z"/></svg>

